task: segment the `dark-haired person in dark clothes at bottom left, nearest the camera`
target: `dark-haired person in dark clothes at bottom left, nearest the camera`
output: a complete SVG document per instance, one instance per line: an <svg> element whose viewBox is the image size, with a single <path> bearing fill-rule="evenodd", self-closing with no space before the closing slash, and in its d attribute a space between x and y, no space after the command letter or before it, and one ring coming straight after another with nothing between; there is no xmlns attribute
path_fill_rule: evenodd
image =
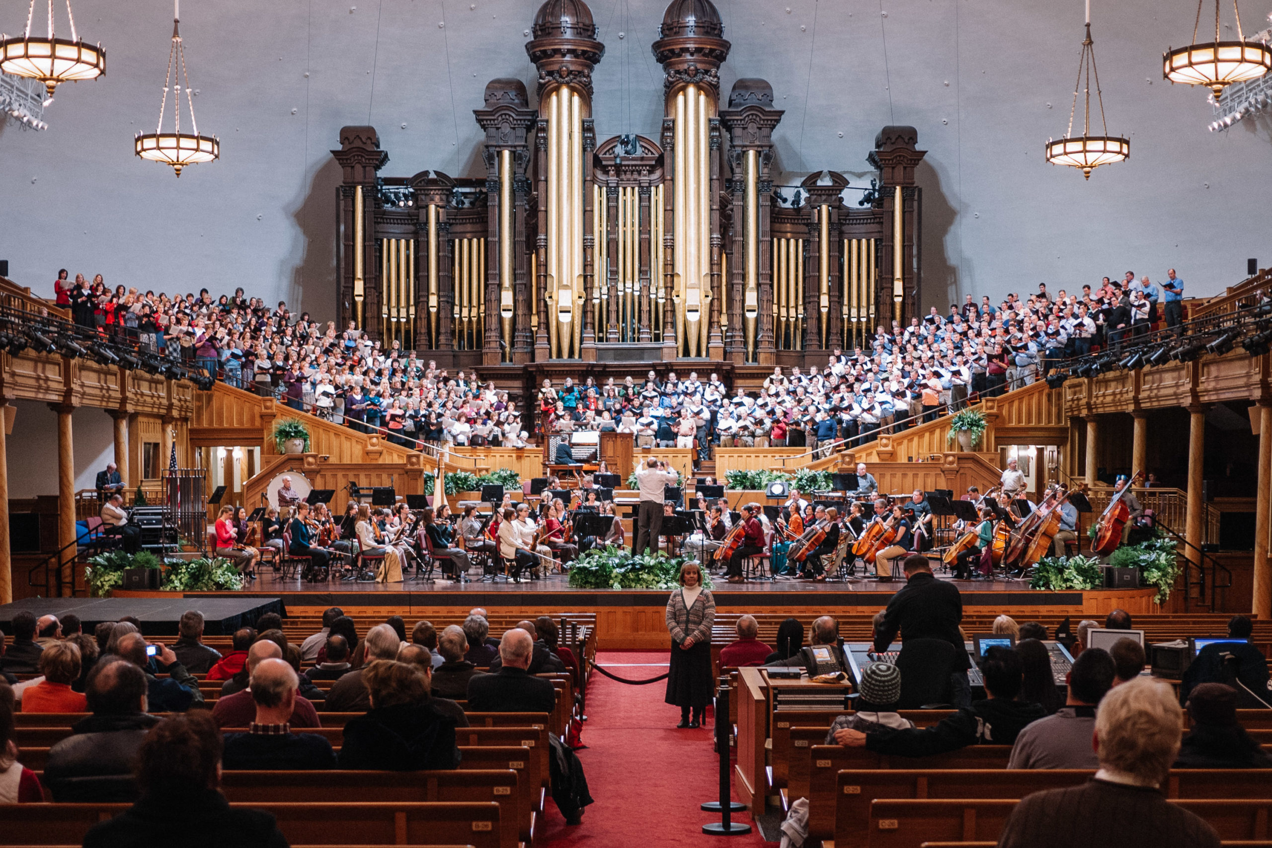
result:
<svg viewBox="0 0 1272 848"><path fill-rule="evenodd" d="M273 816L232 807L220 793L221 734L206 713L178 716L151 730L137 756L141 797L130 810L94 825L85 848L182 842L240 848L286 848Z"/></svg>

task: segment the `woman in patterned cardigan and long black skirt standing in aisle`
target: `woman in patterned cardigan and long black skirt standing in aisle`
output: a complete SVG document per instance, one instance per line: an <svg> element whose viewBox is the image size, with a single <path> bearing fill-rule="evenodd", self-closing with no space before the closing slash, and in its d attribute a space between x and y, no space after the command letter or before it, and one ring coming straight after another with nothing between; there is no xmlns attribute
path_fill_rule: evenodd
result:
<svg viewBox="0 0 1272 848"><path fill-rule="evenodd" d="M681 708L681 723L677 727L701 727L711 701L711 626L715 624L715 599L702 585L702 567L697 562L681 566L678 582L681 587L667 601L672 662L665 701Z"/></svg>

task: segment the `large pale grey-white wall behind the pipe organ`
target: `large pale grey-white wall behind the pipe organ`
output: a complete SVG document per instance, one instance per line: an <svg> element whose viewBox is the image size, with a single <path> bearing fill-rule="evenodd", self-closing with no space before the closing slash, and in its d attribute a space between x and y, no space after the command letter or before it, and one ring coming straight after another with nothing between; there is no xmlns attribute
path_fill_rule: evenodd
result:
<svg viewBox="0 0 1272 848"><path fill-rule="evenodd" d="M387 175L477 173L472 109L496 76L533 90L523 32L537 5L454 0L444 15L439 0L187 0L198 126L220 135L223 160L174 179L131 145L158 116L170 1L74 0L107 75L59 89L50 130L0 130L0 258L39 291L65 266L156 290L243 285L331 315L340 177L328 151L340 127L379 128ZM595 76L600 139L656 137L663 86L649 46L664 5L593 3L608 51ZM1079 0L883 0L885 18L878 0L719 5L733 42L722 89L739 76L772 83L787 182L834 168L868 184L852 174L869 169L879 127L918 128L925 305L1127 270L1156 280L1170 266L1205 295L1241 278L1247 257L1272 264L1272 121L1212 133L1207 93L1161 80L1161 51L1192 32L1191 0L1096 0L1109 131L1128 135L1132 155L1090 182L1042 158L1068 121ZM1268 10L1247 3L1247 32ZM22 11L4 6L0 27L20 31Z"/></svg>

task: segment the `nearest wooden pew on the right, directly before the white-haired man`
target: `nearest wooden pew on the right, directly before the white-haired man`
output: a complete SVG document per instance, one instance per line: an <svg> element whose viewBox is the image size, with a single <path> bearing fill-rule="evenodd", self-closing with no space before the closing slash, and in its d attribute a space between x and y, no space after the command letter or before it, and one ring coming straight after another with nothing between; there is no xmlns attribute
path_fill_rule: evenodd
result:
<svg viewBox="0 0 1272 848"><path fill-rule="evenodd" d="M894 800L871 802L869 848L918 848L925 842L997 840L1016 800ZM1206 820L1220 839L1266 840L1272 798L1183 798L1174 804ZM838 843L836 843L838 848Z"/></svg>

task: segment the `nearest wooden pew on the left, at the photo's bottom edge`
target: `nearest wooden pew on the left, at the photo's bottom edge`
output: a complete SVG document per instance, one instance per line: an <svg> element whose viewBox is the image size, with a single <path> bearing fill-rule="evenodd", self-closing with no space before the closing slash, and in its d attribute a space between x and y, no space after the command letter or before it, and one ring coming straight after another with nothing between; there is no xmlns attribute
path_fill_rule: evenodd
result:
<svg viewBox="0 0 1272 848"><path fill-rule="evenodd" d="M14 804L4 810L5 842L25 845L78 845L98 821L127 804ZM293 845L468 844L499 848L499 805L343 802L253 802L235 805L270 812Z"/></svg>

